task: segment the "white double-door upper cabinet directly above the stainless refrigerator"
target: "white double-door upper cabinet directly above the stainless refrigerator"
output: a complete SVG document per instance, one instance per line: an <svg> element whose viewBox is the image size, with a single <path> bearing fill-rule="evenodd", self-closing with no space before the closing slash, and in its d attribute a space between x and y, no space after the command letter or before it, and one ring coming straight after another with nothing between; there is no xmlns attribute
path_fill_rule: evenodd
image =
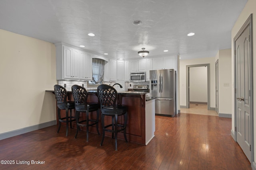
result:
<svg viewBox="0 0 256 170"><path fill-rule="evenodd" d="M173 57L157 57L153 58L153 70L175 68L175 56Z"/></svg>

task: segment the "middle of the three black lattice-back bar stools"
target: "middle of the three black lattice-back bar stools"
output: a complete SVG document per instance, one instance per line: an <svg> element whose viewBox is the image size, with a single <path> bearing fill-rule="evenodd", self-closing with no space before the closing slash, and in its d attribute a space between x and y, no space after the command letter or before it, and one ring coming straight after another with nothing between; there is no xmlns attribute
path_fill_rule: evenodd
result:
<svg viewBox="0 0 256 170"><path fill-rule="evenodd" d="M76 108L76 135L75 138L78 135L78 131L80 130L80 126L84 127L86 126L86 142L88 142L88 137L89 137L89 126L96 125L96 129L98 132L98 135L100 135L99 132L99 104L92 104L92 103L87 103L87 98L88 98L88 92L84 87L78 86L78 85L73 85L71 87L72 89L72 94L74 97L75 101L75 108ZM97 111L97 117L95 119L89 119L89 112ZM86 113L86 119L79 121L80 113ZM83 122L86 122L84 124ZM92 122L89 124L89 122Z"/></svg>

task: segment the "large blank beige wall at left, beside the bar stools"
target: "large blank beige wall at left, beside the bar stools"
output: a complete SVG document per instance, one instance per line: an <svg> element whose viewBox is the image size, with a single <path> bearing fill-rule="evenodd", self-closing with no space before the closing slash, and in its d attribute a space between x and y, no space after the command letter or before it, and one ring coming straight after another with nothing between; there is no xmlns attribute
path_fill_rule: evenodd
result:
<svg viewBox="0 0 256 170"><path fill-rule="evenodd" d="M56 120L52 43L0 29L0 134Z"/></svg>

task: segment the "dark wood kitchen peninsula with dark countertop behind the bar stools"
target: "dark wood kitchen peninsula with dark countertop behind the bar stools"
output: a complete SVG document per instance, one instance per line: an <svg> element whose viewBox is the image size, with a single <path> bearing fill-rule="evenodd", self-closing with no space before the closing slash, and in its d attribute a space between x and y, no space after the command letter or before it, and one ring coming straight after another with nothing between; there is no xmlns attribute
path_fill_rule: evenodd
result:
<svg viewBox="0 0 256 170"><path fill-rule="evenodd" d="M53 92L46 90L47 92ZM68 91L69 100L73 100L72 92ZM128 141L147 145L154 137L155 131L155 98L146 97L146 92L118 92L118 104L128 107L128 120L126 127L126 136ZM88 90L88 102L98 102L97 90ZM64 110L61 111L64 117ZM72 116L74 116L74 111ZM91 114L96 115L96 114ZM83 115L84 116L84 115ZM95 117L94 117L95 118ZM58 116L56 111L57 123ZM101 121L101 120L100 120ZM105 119L108 123L111 119ZM119 119L123 123L124 119ZM76 124L73 123L73 127L76 128ZM83 129L83 128L82 128ZM85 128L83 129L85 130ZM99 130L102 134L101 123L99 124ZM89 131L97 133L96 127L89 127ZM106 136L111 137L111 133L106 132ZM124 140L124 135L118 133L118 139Z"/></svg>

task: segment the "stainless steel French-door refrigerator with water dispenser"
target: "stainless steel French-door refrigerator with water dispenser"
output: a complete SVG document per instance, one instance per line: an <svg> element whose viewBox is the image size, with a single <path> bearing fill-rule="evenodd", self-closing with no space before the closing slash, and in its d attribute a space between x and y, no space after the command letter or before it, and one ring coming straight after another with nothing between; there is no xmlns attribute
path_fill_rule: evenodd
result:
<svg viewBox="0 0 256 170"><path fill-rule="evenodd" d="M150 70L150 96L156 97L156 115L176 115L176 71Z"/></svg>

